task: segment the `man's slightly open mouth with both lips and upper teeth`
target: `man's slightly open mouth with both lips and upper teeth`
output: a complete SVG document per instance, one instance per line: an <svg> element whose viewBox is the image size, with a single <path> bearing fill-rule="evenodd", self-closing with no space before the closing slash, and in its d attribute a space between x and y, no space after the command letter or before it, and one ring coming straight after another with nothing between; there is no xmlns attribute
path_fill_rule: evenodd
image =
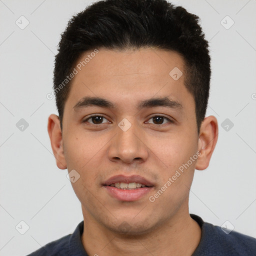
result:
<svg viewBox="0 0 256 256"><path fill-rule="evenodd" d="M109 178L103 184L108 194L119 201L135 201L147 194L153 183L139 176L117 175Z"/></svg>

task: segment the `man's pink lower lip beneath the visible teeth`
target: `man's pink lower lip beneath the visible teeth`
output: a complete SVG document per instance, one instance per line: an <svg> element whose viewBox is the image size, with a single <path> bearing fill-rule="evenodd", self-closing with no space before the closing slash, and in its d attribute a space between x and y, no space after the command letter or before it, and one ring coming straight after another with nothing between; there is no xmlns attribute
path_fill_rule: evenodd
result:
<svg viewBox="0 0 256 256"><path fill-rule="evenodd" d="M121 189L121 188L117 188L114 186L107 186L107 185L104 185L104 187L112 197L120 201L126 201L126 202L136 201L140 199L143 195L147 194L152 189L152 186L140 187L140 188L134 188L134 189Z"/></svg>

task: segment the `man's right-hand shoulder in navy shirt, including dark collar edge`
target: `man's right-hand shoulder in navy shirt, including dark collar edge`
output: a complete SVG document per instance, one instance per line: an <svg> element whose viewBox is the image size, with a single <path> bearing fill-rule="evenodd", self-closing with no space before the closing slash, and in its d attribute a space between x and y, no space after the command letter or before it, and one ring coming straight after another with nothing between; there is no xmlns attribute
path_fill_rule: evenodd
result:
<svg viewBox="0 0 256 256"><path fill-rule="evenodd" d="M193 254L218 256L256 256L256 238L222 229L220 226L204 222L199 216L191 216L201 226L201 240Z"/></svg>

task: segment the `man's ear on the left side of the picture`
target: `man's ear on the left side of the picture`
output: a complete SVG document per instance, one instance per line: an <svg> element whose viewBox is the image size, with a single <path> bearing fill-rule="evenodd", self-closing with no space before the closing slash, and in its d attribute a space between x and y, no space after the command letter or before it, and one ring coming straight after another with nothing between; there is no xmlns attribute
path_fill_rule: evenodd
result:
<svg viewBox="0 0 256 256"><path fill-rule="evenodd" d="M51 114L48 117L48 134L56 164L59 169L66 169L66 161L64 157L62 132L60 129L60 121L57 115Z"/></svg>

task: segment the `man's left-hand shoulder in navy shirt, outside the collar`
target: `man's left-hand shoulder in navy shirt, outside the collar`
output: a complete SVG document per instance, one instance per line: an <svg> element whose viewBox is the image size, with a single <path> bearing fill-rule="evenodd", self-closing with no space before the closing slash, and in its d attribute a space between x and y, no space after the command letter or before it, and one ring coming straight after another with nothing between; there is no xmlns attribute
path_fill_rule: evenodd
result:
<svg viewBox="0 0 256 256"><path fill-rule="evenodd" d="M65 235L57 240L51 241L27 256L59 256L66 255L71 234Z"/></svg>

